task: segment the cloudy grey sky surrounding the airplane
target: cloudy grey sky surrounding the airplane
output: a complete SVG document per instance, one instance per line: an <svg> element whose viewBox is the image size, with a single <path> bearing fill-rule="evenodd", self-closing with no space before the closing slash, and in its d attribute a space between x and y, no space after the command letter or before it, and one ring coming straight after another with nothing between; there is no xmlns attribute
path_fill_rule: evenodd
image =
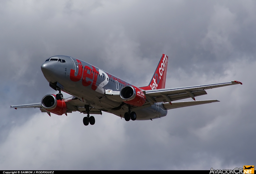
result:
<svg viewBox="0 0 256 174"><path fill-rule="evenodd" d="M210 170L256 165L255 1L0 1L1 170ZM40 66L67 55L145 86L162 54L166 88L241 81L153 121L103 112L10 109L38 103ZM69 96L64 94L64 97ZM191 101L187 99L186 101Z"/></svg>

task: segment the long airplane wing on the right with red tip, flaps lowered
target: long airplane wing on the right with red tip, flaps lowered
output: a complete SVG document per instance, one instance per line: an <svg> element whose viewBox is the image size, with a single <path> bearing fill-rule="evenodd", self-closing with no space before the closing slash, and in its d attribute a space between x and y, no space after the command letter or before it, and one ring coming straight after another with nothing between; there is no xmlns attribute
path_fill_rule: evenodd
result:
<svg viewBox="0 0 256 174"><path fill-rule="evenodd" d="M225 83L215 83L208 85L200 85L200 86L189 86L183 88L171 88L171 89L156 89L156 90L146 90L143 93L146 95L146 99L150 100L149 102L157 103L157 102L168 102L182 100L185 98L193 98L195 100L196 96L205 95L206 89L219 88L222 86L229 86L235 84L242 84L239 81L231 81Z"/></svg>

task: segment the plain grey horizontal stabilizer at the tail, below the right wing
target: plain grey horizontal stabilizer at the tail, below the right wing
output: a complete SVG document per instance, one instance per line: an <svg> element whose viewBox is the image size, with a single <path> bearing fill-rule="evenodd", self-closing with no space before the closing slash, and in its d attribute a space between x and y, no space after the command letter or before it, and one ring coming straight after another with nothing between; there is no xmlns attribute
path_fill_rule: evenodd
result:
<svg viewBox="0 0 256 174"><path fill-rule="evenodd" d="M189 102L172 102L172 104L163 103L163 105L164 105L164 108L166 109L175 109L175 108L181 108L186 106L195 106L195 105L214 103L214 102L219 102L219 101L218 100L201 100L201 101L189 101Z"/></svg>

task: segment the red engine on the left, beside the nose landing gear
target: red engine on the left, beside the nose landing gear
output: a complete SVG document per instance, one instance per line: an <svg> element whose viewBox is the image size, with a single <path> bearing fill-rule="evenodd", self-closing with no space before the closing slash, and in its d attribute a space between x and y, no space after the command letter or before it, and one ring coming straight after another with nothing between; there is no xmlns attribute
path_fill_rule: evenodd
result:
<svg viewBox="0 0 256 174"><path fill-rule="evenodd" d="M57 100L54 94L44 96L41 105L42 108L53 114L62 115L67 112L67 105L64 100Z"/></svg>

